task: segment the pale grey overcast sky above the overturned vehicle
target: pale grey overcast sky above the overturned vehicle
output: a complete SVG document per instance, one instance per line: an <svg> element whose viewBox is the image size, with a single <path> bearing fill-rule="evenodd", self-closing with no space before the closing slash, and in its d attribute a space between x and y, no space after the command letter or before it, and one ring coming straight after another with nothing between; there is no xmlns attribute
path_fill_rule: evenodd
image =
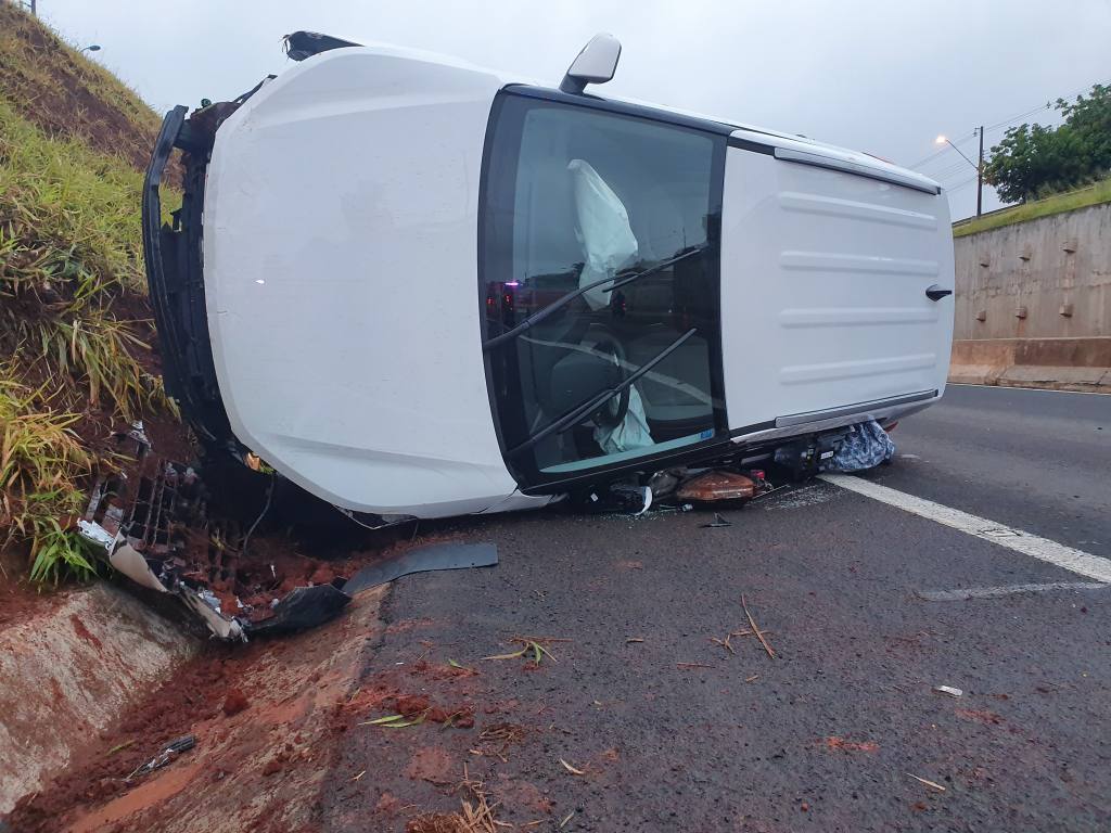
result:
<svg viewBox="0 0 1111 833"><path fill-rule="evenodd" d="M1020 113L1111 79L1111 0L39 0L39 13L163 111L232 98L291 62L308 29L466 58L557 84L589 38L622 42L604 92L731 118L915 165L939 133L974 158ZM1025 120L1043 123L1052 111ZM1021 119L1019 121L1022 121ZM991 126L999 127L991 129ZM963 138L963 140L961 140ZM952 149L918 164L975 211ZM990 189L984 210L999 205Z"/></svg>

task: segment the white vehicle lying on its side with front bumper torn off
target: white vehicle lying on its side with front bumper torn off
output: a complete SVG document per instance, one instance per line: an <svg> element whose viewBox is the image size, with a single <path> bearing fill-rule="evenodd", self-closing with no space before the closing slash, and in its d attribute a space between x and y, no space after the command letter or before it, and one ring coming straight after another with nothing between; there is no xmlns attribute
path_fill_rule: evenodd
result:
<svg viewBox="0 0 1111 833"><path fill-rule="evenodd" d="M805 456L941 397L935 182L598 97L605 36L559 89L289 43L302 62L250 93L171 111L148 171L167 387L209 448L344 510L436 518ZM174 148L184 202L160 225Z"/></svg>

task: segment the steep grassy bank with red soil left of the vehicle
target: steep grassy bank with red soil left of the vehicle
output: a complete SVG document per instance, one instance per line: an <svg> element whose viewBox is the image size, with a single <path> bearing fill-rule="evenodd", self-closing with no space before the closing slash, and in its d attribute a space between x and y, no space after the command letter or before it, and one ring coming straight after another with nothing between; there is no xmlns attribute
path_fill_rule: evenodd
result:
<svg viewBox="0 0 1111 833"><path fill-rule="evenodd" d="M0 548L53 580L110 434L167 420L149 343L141 168L158 118L0 0Z"/></svg>

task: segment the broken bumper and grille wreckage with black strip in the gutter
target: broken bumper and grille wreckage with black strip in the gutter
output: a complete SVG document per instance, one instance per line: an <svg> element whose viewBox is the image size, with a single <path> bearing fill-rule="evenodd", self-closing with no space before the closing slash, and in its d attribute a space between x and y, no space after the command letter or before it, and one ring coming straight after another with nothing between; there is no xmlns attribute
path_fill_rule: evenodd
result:
<svg viewBox="0 0 1111 833"><path fill-rule="evenodd" d="M492 544L432 544L368 564L350 579L318 566L304 585L289 586L292 576L279 573L266 555L252 554L244 563L247 538L234 523L210 516L201 478L154 454L141 422L116 439L119 458L132 462L97 480L78 522L80 534L131 581L177 596L221 640L314 628L339 615L356 593L410 573L498 563ZM312 562L306 563L312 570Z"/></svg>

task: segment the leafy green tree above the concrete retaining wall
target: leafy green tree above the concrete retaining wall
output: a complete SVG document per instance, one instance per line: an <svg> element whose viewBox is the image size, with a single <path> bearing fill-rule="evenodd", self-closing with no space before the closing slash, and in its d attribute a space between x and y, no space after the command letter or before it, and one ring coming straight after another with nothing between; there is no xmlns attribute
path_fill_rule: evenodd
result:
<svg viewBox="0 0 1111 833"><path fill-rule="evenodd" d="M1053 104L1064 123L1011 128L991 149L984 180L1004 202L1068 191L1111 172L1111 87Z"/></svg>

